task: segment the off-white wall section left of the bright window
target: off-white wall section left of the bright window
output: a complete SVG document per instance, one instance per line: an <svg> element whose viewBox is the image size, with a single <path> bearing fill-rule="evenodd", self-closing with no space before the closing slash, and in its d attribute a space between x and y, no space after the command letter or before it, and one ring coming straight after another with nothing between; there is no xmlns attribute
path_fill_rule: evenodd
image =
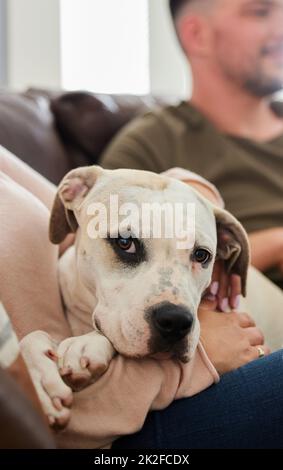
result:
<svg viewBox="0 0 283 470"><path fill-rule="evenodd" d="M59 0L8 0L11 88L60 86Z"/></svg>

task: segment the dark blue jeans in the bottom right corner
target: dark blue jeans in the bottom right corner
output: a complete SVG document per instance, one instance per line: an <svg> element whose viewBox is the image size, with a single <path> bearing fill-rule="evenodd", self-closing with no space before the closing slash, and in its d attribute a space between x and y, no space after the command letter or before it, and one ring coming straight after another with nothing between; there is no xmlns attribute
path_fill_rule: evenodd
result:
<svg viewBox="0 0 283 470"><path fill-rule="evenodd" d="M151 412L140 432L120 438L112 448L283 448L283 350Z"/></svg>

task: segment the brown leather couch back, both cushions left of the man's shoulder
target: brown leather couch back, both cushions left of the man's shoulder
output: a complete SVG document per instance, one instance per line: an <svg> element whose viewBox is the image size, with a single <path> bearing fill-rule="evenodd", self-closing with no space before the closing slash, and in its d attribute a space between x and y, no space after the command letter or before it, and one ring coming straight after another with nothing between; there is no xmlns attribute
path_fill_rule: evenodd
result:
<svg viewBox="0 0 283 470"><path fill-rule="evenodd" d="M162 104L150 96L0 91L0 145L58 183L70 169L98 163L122 126Z"/></svg>

